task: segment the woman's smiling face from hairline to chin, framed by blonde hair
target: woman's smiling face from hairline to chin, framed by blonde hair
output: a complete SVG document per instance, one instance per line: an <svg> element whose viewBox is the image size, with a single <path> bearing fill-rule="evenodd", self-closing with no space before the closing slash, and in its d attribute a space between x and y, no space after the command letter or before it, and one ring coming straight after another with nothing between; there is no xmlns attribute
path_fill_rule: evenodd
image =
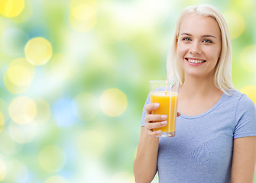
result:
<svg viewBox="0 0 256 183"><path fill-rule="evenodd" d="M180 24L177 55L187 76L213 77L222 49L222 35L212 17L188 14Z"/></svg>

